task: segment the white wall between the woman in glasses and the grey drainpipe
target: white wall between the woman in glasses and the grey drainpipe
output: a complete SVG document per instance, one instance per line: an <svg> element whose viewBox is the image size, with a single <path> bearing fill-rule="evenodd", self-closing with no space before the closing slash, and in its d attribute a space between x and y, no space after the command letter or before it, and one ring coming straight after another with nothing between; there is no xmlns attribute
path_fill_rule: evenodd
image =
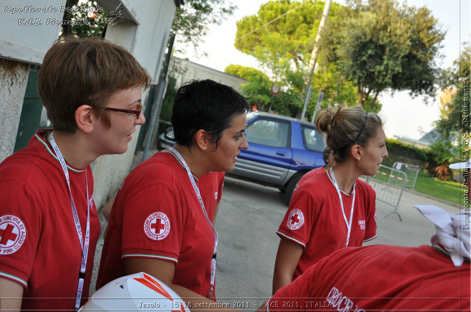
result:
<svg viewBox="0 0 471 312"><path fill-rule="evenodd" d="M162 67L167 39L175 14L173 0L98 0L107 12L114 10L119 3L128 11L130 20L118 26L109 26L105 38L126 47L154 77L156 83ZM148 90L142 95L147 98ZM142 103L146 107L146 103ZM97 207L104 205L117 192L123 179L128 175L134 151L139 137L140 126L132 135L128 151L122 155L105 155L98 157L92 164L95 179L94 199Z"/></svg>

